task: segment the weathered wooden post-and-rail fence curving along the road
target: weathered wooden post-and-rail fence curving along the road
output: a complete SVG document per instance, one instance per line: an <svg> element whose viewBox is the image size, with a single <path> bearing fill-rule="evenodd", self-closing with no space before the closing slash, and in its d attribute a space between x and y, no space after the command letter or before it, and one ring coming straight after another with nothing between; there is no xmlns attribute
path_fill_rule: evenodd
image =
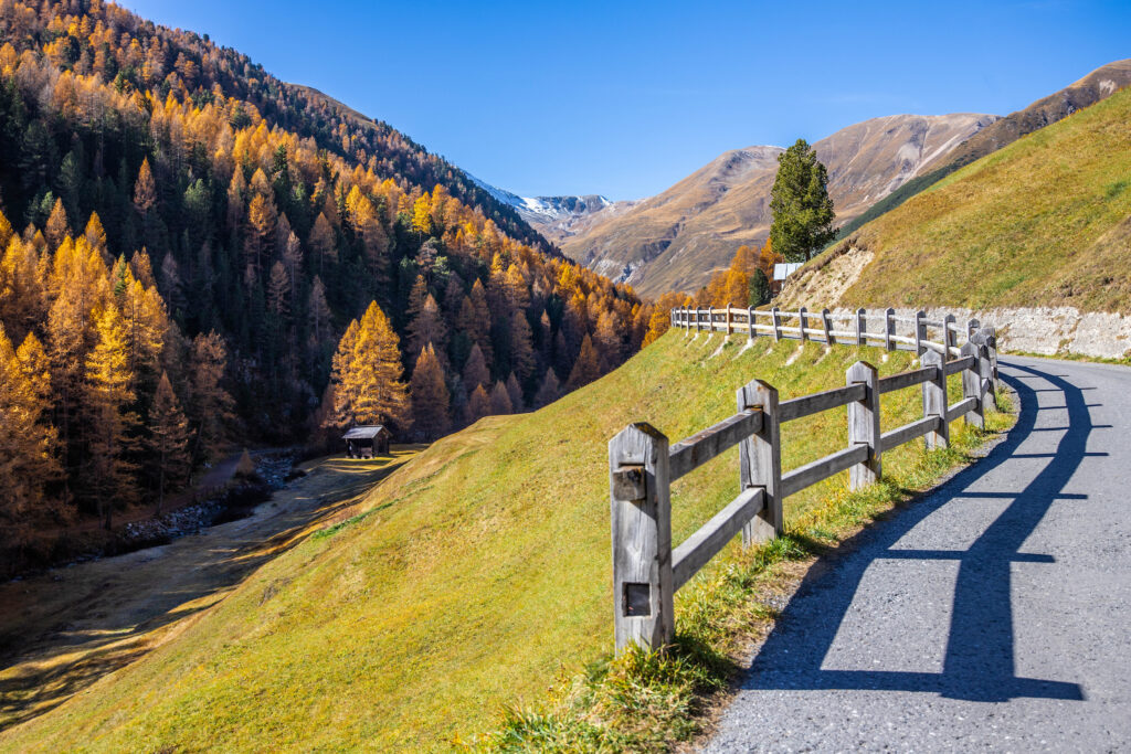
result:
<svg viewBox="0 0 1131 754"><path fill-rule="evenodd" d="M844 320L847 328L839 326ZM879 327L870 330L877 322ZM780 402L772 385L753 380L739 388L734 416L674 445L646 423L631 424L613 437L608 476L618 653L631 643L645 648L670 643L675 633L675 591L740 531L745 547L782 534L785 497L845 470L852 489L872 484L882 474L883 453L918 437L925 437L927 449L947 447L950 423L958 417L983 426L985 397L993 398L996 389L994 330L976 320L959 326L952 315L927 320L923 312L899 318L891 309L837 317L828 310L763 312L727 306L676 309L672 324L830 346L882 344L889 350L915 350L922 365L880 378L874 366L856 362L848 367L844 388ZM947 376L958 373L962 399L948 406ZM881 434L880 396L916 385L923 393L923 418ZM840 407L847 408L848 447L783 474L782 424ZM734 445L739 445L739 496L673 548L672 483Z"/></svg>

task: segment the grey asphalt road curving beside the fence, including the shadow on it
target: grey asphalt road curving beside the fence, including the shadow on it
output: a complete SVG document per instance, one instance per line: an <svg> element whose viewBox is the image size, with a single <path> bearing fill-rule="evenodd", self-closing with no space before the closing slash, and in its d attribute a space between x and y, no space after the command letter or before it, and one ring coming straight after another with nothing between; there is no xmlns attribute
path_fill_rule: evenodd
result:
<svg viewBox="0 0 1131 754"><path fill-rule="evenodd" d="M819 564L706 751L1131 751L1131 369L1007 357L1008 439Z"/></svg>

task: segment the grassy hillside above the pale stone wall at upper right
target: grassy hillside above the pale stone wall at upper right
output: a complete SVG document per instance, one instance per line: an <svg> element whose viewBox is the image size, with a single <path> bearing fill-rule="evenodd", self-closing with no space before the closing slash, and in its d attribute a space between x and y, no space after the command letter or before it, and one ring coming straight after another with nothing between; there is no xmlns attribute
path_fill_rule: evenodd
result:
<svg viewBox="0 0 1131 754"><path fill-rule="evenodd" d="M1131 88L949 175L866 225L848 305L1131 312Z"/></svg>

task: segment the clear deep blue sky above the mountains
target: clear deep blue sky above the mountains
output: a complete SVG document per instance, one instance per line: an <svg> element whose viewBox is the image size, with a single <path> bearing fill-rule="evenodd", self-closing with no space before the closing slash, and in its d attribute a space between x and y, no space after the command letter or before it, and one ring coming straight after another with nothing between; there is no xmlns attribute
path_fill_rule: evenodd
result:
<svg viewBox="0 0 1131 754"><path fill-rule="evenodd" d="M1131 0L122 5L523 196L650 196L727 149L1007 114L1131 58Z"/></svg>

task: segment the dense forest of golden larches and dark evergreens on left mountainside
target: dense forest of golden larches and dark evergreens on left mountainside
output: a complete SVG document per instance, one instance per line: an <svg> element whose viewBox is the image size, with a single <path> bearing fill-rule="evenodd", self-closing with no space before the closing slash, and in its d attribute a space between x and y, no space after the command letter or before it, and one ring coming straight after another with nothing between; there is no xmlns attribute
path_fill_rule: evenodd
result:
<svg viewBox="0 0 1131 754"><path fill-rule="evenodd" d="M544 405L667 324L392 128L98 0L0 0L0 213L9 540L232 442Z"/></svg>

